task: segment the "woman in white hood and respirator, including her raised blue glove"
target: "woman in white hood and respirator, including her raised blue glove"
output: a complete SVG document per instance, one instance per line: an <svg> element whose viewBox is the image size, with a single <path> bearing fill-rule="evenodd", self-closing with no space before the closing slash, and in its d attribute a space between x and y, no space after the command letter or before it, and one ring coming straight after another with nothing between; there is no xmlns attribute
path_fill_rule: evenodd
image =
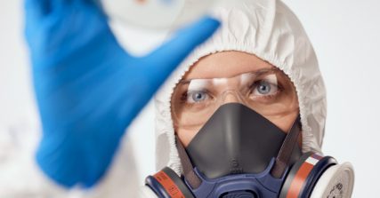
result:
<svg viewBox="0 0 380 198"><path fill-rule="evenodd" d="M36 161L66 187L97 184L133 117L219 25L200 20L136 58L117 43L98 5L26 2L43 125ZM276 0L224 4L214 13L222 29L183 62L156 99L158 169L167 167L147 179L144 193L350 196L351 166L315 154L323 138L325 91L294 14ZM299 172L306 173L302 179Z"/></svg>

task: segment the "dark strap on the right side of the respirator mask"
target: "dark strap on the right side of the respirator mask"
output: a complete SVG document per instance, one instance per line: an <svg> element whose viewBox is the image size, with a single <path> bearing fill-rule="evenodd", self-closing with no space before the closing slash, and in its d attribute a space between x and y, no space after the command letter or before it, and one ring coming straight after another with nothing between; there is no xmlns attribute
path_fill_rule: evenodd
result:
<svg viewBox="0 0 380 198"><path fill-rule="evenodd" d="M279 154L276 157L276 162L271 170L271 175L274 178L281 178L287 169L289 159L297 143L298 136L301 131L301 117L297 116L295 122L292 125L292 128L287 133L287 137L282 143L281 148L279 149Z"/></svg>

